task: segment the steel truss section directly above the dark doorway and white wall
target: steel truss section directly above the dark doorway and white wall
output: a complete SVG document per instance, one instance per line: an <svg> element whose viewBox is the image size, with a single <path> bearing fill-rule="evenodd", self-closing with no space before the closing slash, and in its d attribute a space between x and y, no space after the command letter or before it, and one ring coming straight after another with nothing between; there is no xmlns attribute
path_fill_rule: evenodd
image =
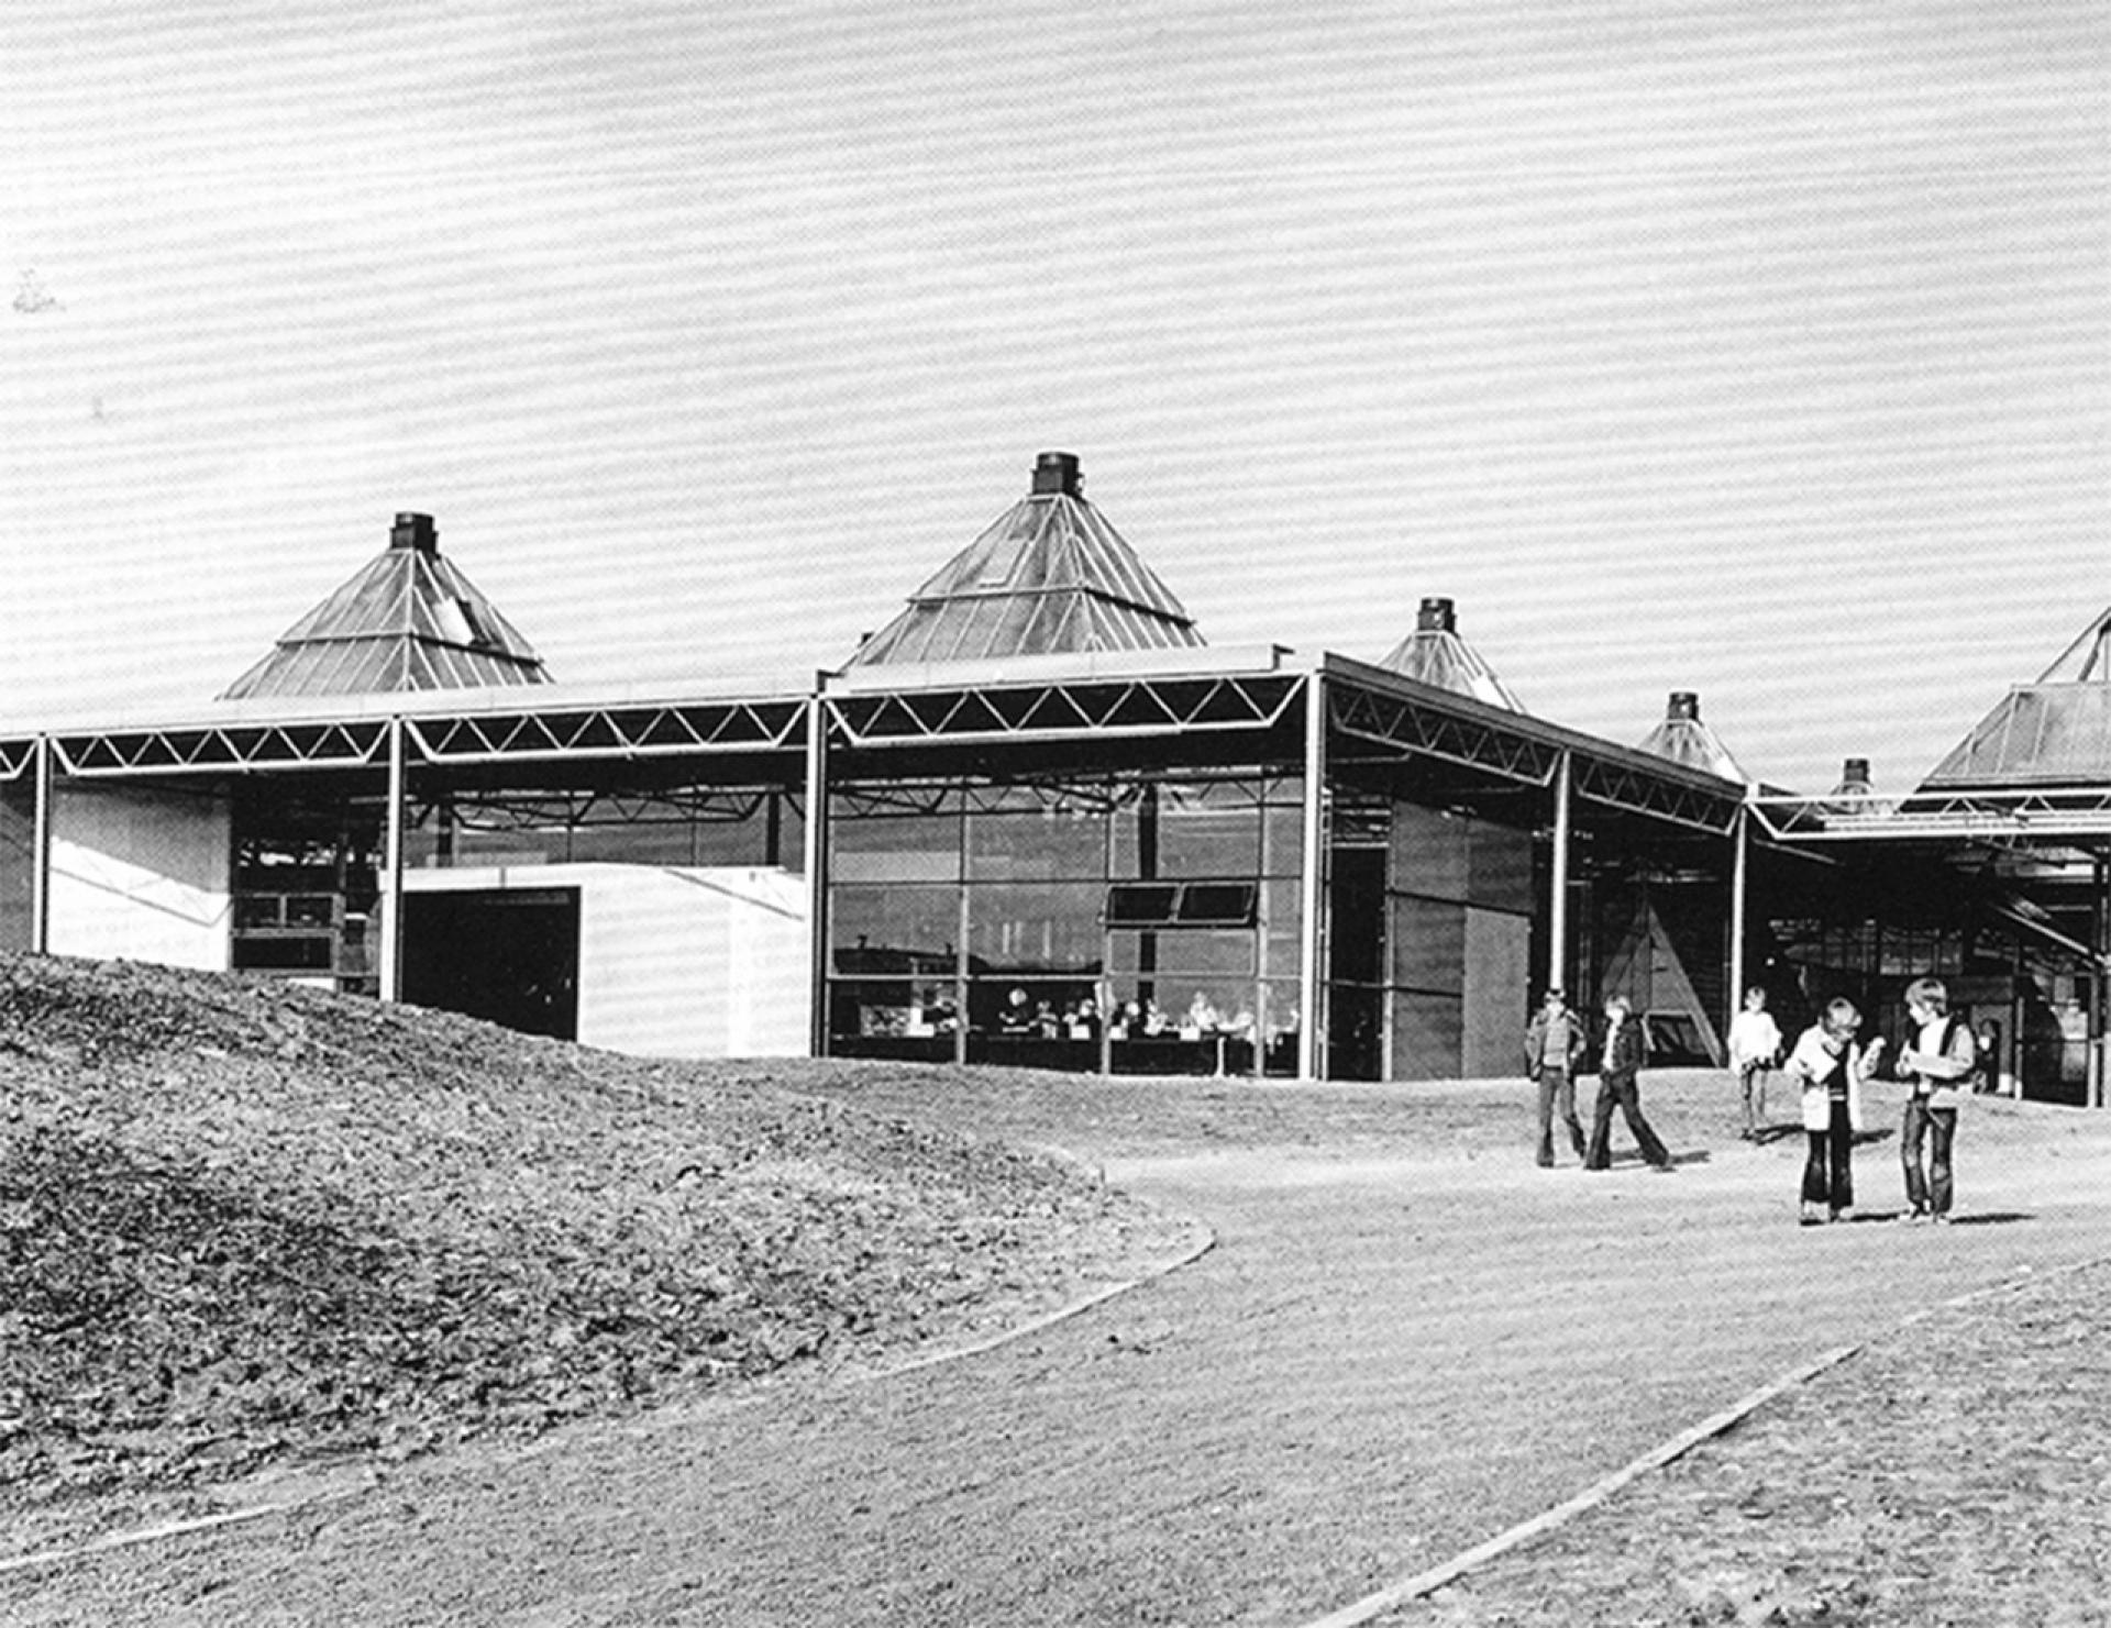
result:
<svg viewBox="0 0 2111 1628"><path fill-rule="evenodd" d="M798 747L802 701L690 701L661 707L570 707L407 718L426 762L538 758L673 758Z"/></svg>

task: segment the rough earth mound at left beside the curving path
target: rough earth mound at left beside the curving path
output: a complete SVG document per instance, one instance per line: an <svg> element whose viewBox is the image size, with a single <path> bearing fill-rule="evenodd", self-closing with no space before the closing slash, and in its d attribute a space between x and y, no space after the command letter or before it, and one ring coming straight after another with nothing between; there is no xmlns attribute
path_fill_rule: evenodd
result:
<svg viewBox="0 0 2111 1628"><path fill-rule="evenodd" d="M234 976L0 957L0 1489L407 1455L958 1337L1146 1214L1056 1159Z"/></svg>

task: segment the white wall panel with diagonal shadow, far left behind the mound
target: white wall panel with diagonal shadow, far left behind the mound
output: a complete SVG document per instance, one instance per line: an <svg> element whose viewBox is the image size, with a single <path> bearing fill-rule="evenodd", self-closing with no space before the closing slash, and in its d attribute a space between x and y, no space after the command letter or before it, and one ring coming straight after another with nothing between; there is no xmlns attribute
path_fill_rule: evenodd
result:
<svg viewBox="0 0 2111 1628"><path fill-rule="evenodd" d="M51 809L51 950L226 971L226 798L131 781L59 783Z"/></svg>

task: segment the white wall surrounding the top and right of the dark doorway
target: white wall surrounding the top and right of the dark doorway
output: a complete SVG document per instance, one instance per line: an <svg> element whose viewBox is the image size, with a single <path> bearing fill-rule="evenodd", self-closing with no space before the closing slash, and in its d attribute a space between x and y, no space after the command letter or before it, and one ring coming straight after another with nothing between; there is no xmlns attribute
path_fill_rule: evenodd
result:
<svg viewBox="0 0 2111 1628"><path fill-rule="evenodd" d="M661 1058L806 1056L806 889L785 870L555 864L405 872L407 891L578 889L578 1039Z"/></svg>

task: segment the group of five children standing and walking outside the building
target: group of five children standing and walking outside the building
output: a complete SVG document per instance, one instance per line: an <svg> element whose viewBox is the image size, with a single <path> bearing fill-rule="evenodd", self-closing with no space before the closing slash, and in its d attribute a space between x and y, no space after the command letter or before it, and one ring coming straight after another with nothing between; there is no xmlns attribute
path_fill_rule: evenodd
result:
<svg viewBox="0 0 2111 1628"><path fill-rule="evenodd" d="M1809 1153L1803 1161L1799 1218L1805 1227L1851 1220L1853 1140L1862 1132L1862 1083L1889 1077L1906 1085L1898 1149L1906 1178L1906 1208L1900 1220L1948 1223L1955 1201L1953 1157L1957 1111L1986 1068L1984 1043L1972 1026L1948 1009L1940 978L1917 978L1906 986L1906 1024L1889 1068L1883 1037L1860 1041L1862 1014L1853 1001L1824 1005L1792 1047L1767 1011L1763 988L1746 990L1744 1009L1729 1030L1729 1066L1737 1079L1746 1140L1763 1140L1767 1079L1780 1066L1801 1100ZM1524 1030L1524 1073L1537 1087L1537 1161L1554 1166L1556 1121L1585 1170L1613 1166L1613 1111L1628 1121L1628 1134L1644 1163L1676 1170L1670 1149L1642 1115L1638 1071L1647 1056L1642 1024L1623 995L1604 1003L1604 1022L1592 1026L1568 1007L1562 990L1549 988ZM1598 1100L1590 1138L1577 1117L1577 1073L1596 1062Z"/></svg>

